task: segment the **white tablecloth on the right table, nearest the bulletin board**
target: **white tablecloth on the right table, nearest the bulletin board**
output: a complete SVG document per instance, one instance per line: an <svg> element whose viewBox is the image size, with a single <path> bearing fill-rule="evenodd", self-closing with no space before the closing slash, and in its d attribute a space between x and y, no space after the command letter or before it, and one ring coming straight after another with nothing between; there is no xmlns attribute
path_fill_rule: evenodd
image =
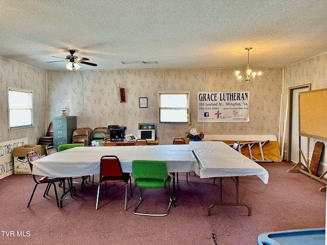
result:
<svg viewBox="0 0 327 245"><path fill-rule="evenodd" d="M198 160L201 178L256 175L268 183L265 168L222 141L191 141L190 145Z"/></svg>

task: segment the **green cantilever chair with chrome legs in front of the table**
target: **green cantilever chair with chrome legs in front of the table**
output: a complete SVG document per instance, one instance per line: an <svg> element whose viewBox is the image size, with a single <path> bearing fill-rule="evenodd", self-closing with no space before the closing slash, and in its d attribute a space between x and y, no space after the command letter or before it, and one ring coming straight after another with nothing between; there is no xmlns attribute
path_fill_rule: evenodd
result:
<svg viewBox="0 0 327 245"><path fill-rule="evenodd" d="M132 177L135 181L135 187L139 187L139 201L133 210L133 214L146 216L166 216L169 213L172 204L170 182L171 177L168 175L167 163L165 161L151 160L133 160ZM142 201L142 188L166 188L169 187L169 206L164 214L138 213L136 209Z"/></svg>

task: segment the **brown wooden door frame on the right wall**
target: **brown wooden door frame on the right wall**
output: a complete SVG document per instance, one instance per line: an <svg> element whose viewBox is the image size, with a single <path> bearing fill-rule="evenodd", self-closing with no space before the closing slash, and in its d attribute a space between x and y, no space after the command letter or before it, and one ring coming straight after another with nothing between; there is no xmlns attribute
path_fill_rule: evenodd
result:
<svg viewBox="0 0 327 245"><path fill-rule="evenodd" d="M311 90L311 83L307 83L307 84L302 84L302 85L297 85L294 87L289 87L288 88L288 113L287 113L287 121L288 123L288 127L287 127L287 133L286 133L286 148L287 149L287 154L286 154L286 161L291 161L291 147L292 144L290 144L290 140L291 140L291 134L292 134L292 108L293 108L293 90L295 89L299 89L299 88L308 88L308 90ZM309 138L308 138L309 141ZM300 139L299 139L299 145L300 145ZM309 144L308 144L309 145ZM309 149L307 149L307 151L309 151ZM307 154L308 156L308 154ZM300 154L299 154L299 160L301 160Z"/></svg>

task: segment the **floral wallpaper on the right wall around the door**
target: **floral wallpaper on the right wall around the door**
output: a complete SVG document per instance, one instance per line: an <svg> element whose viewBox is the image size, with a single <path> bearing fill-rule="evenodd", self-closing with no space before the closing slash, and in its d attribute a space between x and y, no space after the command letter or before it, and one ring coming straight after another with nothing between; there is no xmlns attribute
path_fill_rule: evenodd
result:
<svg viewBox="0 0 327 245"><path fill-rule="evenodd" d="M288 90L290 87L311 83L311 90L327 88L326 66L327 54L322 54L285 68L284 92L286 96L284 101L284 110L287 104ZM325 105L322 106L324 107ZM284 118L284 120L287 120L287 118ZM318 169L318 173L321 174L327 169L327 154L325 154L327 141L310 138L309 162L311 161L314 145L317 141L321 141L325 145L323 150L324 154L322 154L322 157L320 159L320 166ZM288 151L288 149L286 149L286 151ZM306 152L306 149L302 149L302 151Z"/></svg>

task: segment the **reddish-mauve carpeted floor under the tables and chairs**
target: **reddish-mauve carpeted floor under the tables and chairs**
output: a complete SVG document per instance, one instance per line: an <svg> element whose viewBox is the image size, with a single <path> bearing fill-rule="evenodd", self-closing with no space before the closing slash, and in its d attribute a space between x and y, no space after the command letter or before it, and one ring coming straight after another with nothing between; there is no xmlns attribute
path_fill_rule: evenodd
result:
<svg viewBox="0 0 327 245"><path fill-rule="evenodd" d="M0 180L0 244L256 244L263 232L319 228L325 226L325 192L322 183L301 173L287 173L290 163L260 163L269 171L269 183L258 177L240 177L239 201L246 207L215 206L219 201L219 179L200 179L193 173L189 182L179 173L177 205L166 217L132 213L139 190L133 186L124 211L124 184L102 188L95 210L98 184L90 183L77 197L56 206L53 187L43 198L45 186L38 186L30 208L27 204L34 182L30 175L12 175ZM95 176L98 181L99 176ZM104 185L102 186L104 187ZM62 188L58 187L61 194ZM130 192L129 192L130 193ZM165 212L168 189L146 189L138 211ZM235 200L235 183L223 180L223 201ZM18 236L20 235L20 236Z"/></svg>

